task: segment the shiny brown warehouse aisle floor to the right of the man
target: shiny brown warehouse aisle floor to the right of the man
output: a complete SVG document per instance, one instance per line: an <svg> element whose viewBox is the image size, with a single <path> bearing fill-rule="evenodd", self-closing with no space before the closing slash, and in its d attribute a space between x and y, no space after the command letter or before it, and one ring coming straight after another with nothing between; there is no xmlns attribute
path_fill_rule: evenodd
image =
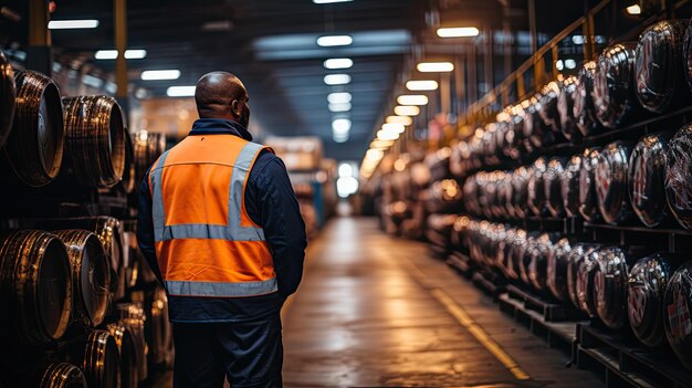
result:
<svg viewBox="0 0 692 388"><path fill-rule="evenodd" d="M286 387L600 386L375 219L332 221L283 313Z"/></svg>

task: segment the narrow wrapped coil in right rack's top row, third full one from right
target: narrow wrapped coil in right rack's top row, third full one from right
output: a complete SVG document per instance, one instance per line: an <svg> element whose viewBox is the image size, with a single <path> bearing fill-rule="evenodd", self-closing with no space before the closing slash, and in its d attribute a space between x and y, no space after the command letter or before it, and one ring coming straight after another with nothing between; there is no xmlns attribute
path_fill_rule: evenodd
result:
<svg viewBox="0 0 692 388"><path fill-rule="evenodd" d="M594 77L596 75L596 62L589 61L577 73L576 87L573 93L574 106L573 115L577 129L584 136L597 134L600 123L596 118L596 107L594 105Z"/></svg>

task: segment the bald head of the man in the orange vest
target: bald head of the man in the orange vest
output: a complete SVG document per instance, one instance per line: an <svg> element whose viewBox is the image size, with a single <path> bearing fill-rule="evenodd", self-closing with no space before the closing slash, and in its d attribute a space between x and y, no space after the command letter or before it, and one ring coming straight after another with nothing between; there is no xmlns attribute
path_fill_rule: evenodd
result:
<svg viewBox="0 0 692 388"><path fill-rule="evenodd" d="M248 91L231 73L211 72L199 78L195 103L200 118L226 118L248 127Z"/></svg>

